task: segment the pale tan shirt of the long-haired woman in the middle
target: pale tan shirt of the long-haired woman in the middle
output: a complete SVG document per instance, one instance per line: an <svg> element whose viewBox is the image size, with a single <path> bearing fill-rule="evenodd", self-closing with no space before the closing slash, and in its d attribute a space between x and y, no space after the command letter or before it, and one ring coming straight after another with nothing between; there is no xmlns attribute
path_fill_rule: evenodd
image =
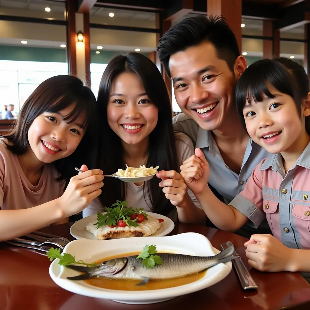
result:
<svg viewBox="0 0 310 310"><path fill-rule="evenodd" d="M192 140L185 135L184 133L178 132L175 133L176 139L176 151L178 156L179 164L182 165L184 160L192 156L194 152L194 146ZM160 167L159 167L160 168ZM198 202L195 195L188 189L188 194L193 200L194 204L201 208L200 203ZM148 194L143 194L143 184L140 186L135 185L134 183L126 183L126 201L128 201L128 206L133 209L144 208L145 211L152 212L149 206L151 203L148 199ZM115 201L116 202L116 201ZM103 207L99 201L99 198L95 198L89 206L83 210L83 217L96 214L97 211L103 211ZM177 220L177 210L174 208L168 215L168 217L174 221Z"/></svg>

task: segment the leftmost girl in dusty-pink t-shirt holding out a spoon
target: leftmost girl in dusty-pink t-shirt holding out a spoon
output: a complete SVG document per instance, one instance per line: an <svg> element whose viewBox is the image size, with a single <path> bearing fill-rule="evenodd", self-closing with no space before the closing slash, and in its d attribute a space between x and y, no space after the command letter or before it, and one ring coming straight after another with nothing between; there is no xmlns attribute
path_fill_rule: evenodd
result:
<svg viewBox="0 0 310 310"><path fill-rule="evenodd" d="M95 96L78 78L33 91L0 139L0 241L65 222L101 193L101 170L74 170L95 162L98 127Z"/></svg>

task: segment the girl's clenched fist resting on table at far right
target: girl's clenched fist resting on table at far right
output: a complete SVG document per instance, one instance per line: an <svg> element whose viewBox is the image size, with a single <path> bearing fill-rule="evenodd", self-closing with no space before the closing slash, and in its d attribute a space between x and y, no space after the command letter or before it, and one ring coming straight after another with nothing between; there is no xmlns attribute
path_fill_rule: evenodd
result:
<svg viewBox="0 0 310 310"><path fill-rule="evenodd" d="M270 234L254 234L246 246L250 266L260 271L290 271L292 250Z"/></svg>

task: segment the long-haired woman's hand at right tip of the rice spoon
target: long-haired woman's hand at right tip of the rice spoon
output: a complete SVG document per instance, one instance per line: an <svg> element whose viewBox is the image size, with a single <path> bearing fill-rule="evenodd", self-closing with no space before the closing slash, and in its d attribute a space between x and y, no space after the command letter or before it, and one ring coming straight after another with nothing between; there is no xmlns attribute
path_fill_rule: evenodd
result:
<svg viewBox="0 0 310 310"><path fill-rule="evenodd" d="M165 193L167 199L171 201L174 206L180 206L184 200L187 192L187 186L182 176L174 170L162 170L156 174L157 178L162 178L159 186Z"/></svg>

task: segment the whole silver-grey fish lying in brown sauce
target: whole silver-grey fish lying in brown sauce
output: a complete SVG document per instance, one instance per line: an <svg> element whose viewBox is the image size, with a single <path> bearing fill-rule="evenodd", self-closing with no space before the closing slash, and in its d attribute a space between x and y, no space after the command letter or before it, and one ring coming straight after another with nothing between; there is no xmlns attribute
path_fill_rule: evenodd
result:
<svg viewBox="0 0 310 310"><path fill-rule="evenodd" d="M67 277L70 280L86 280L91 277L106 277L111 279L142 280L145 284L149 279L164 280L183 277L206 270L219 263L226 263L238 255L233 255L234 247L230 246L214 256L191 256L183 254L156 253L162 259L161 265L146 268L138 255L111 259L96 267L68 265L68 268L85 272L79 276Z"/></svg>

